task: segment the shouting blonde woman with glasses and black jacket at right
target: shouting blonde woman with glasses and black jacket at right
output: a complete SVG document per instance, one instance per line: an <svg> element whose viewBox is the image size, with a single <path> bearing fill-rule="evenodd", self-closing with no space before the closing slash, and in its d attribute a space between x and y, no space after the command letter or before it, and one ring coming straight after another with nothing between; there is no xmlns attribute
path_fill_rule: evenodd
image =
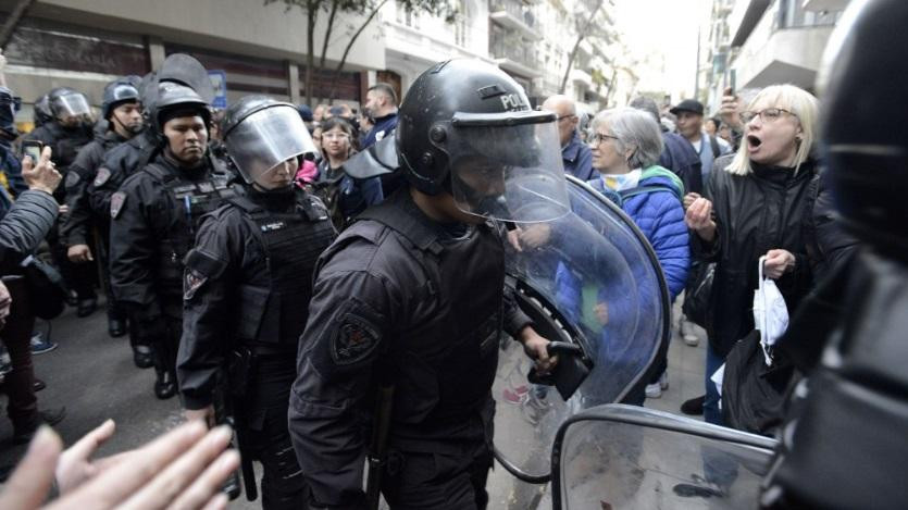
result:
<svg viewBox="0 0 908 510"><path fill-rule="evenodd" d="M741 120L744 138L737 153L717 161L706 197L685 197L694 246L704 260L717 262L707 312L704 415L710 423L722 420L709 377L754 329L759 258L766 256L766 275L775 281L789 312L811 285L801 221L816 172L817 99L792 85L767 87Z"/></svg>

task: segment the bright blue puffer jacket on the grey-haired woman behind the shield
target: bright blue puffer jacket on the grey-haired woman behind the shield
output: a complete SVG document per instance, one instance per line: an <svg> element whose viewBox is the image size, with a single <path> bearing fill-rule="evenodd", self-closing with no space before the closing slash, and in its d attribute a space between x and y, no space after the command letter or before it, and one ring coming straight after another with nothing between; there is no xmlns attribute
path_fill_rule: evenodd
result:
<svg viewBox="0 0 908 510"><path fill-rule="evenodd" d="M605 184L600 177L589 184L602 191ZM687 271L691 269L691 249L687 238L687 225L684 224L684 208L681 197L684 186L670 171L661 166L650 166L643 172L637 188L620 194L621 209L634 220L646 236L669 286L669 296L675 296L684 289ZM614 192L606 196L610 198Z"/></svg>

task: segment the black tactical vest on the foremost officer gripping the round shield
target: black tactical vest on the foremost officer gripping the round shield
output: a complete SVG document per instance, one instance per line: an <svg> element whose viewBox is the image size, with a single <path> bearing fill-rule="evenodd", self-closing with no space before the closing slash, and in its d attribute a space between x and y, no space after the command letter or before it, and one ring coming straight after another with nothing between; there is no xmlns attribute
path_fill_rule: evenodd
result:
<svg viewBox="0 0 908 510"><path fill-rule="evenodd" d="M357 221L372 220L400 234L427 277L420 300L432 303L430 312L397 326L386 353L394 361L380 365L393 365L394 421L403 424L397 430L437 431L487 407L498 366L505 250L495 225L478 225L461 239L441 239L405 210L405 200L409 195L398 192Z"/></svg>

